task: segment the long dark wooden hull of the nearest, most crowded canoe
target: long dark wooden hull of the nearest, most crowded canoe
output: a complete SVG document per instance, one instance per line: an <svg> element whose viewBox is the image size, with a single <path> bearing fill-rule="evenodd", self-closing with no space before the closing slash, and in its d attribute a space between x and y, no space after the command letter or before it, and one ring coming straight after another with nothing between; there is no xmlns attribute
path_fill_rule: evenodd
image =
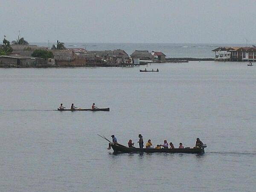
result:
<svg viewBox="0 0 256 192"><path fill-rule="evenodd" d="M128 148L118 145L111 146L115 153L134 153L134 152L146 152L146 153L194 153L203 154L204 148Z"/></svg>

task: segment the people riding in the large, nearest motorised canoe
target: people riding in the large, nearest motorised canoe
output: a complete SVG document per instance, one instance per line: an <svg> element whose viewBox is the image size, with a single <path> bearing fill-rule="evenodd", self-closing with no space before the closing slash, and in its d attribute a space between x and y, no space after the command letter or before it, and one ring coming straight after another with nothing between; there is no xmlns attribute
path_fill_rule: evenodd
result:
<svg viewBox="0 0 256 192"><path fill-rule="evenodd" d="M108 144L108 149L111 149L111 145L114 145L114 144L117 143L116 137L114 135L111 135L111 137L112 137L112 143ZM143 136L141 134L139 134L139 141L137 143L139 143L140 148L144 147ZM199 138L197 138L194 148L202 148L203 145L204 145L204 143ZM134 143L132 143L132 140L128 141L128 147L134 147ZM168 144L167 140L163 141L163 145L157 145L157 146L153 146L153 144L151 143L151 140L148 140L148 142L146 143L145 148L170 148L170 149L174 149L175 147L172 144L172 142L170 142ZM178 148L184 148L183 144L180 143Z"/></svg>

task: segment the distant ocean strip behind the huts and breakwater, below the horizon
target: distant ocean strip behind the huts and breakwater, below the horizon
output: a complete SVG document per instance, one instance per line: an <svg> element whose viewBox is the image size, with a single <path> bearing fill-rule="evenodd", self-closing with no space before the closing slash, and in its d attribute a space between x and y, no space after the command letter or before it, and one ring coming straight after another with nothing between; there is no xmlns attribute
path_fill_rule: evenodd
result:
<svg viewBox="0 0 256 192"><path fill-rule="evenodd" d="M48 46L48 43L31 43ZM49 43L49 47L52 47ZM55 43L56 44L56 43ZM248 47L247 44L131 44L131 43L65 43L67 48L85 48L88 51L123 49L128 55L135 50L162 51L166 57L214 58L213 49L217 47ZM252 47L252 46L251 46Z"/></svg>

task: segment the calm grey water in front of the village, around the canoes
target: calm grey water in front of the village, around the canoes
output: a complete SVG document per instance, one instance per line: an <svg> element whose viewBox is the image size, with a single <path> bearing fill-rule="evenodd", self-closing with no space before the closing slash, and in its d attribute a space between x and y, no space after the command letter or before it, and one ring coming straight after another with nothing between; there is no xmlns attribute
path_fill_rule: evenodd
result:
<svg viewBox="0 0 256 192"><path fill-rule="evenodd" d="M0 69L0 191L255 191L256 66L139 68ZM96 134L207 148L115 155Z"/></svg>

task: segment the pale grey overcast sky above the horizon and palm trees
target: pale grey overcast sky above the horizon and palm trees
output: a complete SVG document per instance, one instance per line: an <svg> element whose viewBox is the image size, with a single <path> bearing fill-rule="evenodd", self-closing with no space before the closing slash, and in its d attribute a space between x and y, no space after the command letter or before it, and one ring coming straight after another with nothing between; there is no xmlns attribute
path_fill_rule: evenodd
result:
<svg viewBox="0 0 256 192"><path fill-rule="evenodd" d="M255 0L0 0L9 41L256 44L255 23Z"/></svg>

